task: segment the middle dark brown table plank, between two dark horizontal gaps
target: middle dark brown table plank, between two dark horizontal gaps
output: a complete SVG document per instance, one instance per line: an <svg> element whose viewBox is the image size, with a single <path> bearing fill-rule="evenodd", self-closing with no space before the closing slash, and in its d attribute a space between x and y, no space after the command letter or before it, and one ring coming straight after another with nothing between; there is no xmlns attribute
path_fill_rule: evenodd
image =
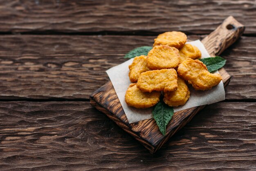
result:
<svg viewBox="0 0 256 171"><path fill-rule="evenodd" d="M205 36L189 36L202 39ZM0 99L89 99L133 48L155 36L0 36ZM123 41L120 41L123 40ZM242 36L222 53L232 76L226 99L256 99L256 38ZM248 93L248 90L251 90Z"/></svg>

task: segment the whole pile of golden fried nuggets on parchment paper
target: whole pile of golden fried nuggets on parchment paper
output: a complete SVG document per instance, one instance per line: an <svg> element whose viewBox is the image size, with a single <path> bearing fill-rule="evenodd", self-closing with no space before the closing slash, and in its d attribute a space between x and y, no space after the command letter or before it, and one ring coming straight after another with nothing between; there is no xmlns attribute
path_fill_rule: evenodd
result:
<svg viewBox="0 0 256 171"><path fill-rule="evenodd" d="M125 101L135 108L152 107L163 101L170 107L184 105L190 97L186 83L195 90L209 90L218 85L222 77L210 73L200 60L200 50L185 44L186 34L169 31L157 36L148 56L137 56L129 66L133 82L126 91Z"/></svg>

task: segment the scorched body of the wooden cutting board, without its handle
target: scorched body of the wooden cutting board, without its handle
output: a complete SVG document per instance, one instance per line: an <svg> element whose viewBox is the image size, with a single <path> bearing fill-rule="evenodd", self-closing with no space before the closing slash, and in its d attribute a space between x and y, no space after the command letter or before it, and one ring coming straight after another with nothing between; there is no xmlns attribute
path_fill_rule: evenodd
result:
<svg viewBox="0 0 256 171"><path fill-rule="evenodd" d="M230 76L225 69L221 69L219 72L226 87ZM124 131L135 137L150 153L155 153L155 151L160 149L171 136L184 127L205 106L175 112L166 126L166 135L163 136L153 118L129 124L111 82L94 91L90 96L90 102L96 109L105 113L108 118L116 122Z"/></svg>

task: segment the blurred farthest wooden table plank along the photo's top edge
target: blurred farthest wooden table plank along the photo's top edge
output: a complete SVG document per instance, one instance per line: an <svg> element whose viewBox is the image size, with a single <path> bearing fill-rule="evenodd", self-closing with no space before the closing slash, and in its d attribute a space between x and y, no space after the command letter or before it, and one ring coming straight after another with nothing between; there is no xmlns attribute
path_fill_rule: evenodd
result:
<svg viewBox="0 0 256 171"><path fill-rule="evenodd" d="M0 32L154 34L179 30L209 34L234 16L256 34L255 0L72 1L2 0Z"/></svg>

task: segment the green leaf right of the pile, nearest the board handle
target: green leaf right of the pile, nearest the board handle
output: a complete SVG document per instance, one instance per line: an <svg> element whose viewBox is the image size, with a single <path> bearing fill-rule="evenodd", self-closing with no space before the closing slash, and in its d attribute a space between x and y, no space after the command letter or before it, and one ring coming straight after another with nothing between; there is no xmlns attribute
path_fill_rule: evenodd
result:
<svg viewBox="0 0 256 171"><path fill-rule="evenodd" d="M213 72L222 68L226 63L226 60L221 58L220 56L203 58L200 59L200 61L202 61L206 65L209 72Z"/></svg>

